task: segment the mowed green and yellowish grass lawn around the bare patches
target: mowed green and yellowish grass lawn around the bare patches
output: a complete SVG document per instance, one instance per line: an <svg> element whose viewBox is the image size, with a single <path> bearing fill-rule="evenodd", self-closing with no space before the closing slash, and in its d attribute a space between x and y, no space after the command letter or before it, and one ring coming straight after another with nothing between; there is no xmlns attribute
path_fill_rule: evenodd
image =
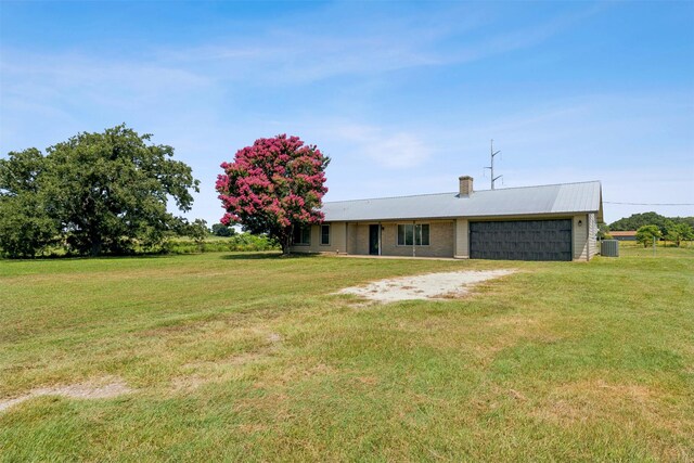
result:
<svg viewBox="0 0 694 463"><path fill-rule="evenodd" d="M694 249L0 261L1 461L692 461ZM513 268L458 300L331 293Z"/></svg>

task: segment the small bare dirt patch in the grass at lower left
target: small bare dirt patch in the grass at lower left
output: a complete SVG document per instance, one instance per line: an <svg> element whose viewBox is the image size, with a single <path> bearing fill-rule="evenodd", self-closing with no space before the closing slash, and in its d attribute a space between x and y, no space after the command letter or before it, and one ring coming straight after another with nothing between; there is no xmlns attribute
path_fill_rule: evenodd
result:
<svg viewBox="0 0 694 463"><path fill-rule="evenodd" d="M107 382L111 381L111 382ZM40 396L62 396L72 399L108 399L132 393L132 389L119 378L106 378L99 382L69 384L65 386L40 387L12 399L0 400L0 412L18 403Z"/></svg>

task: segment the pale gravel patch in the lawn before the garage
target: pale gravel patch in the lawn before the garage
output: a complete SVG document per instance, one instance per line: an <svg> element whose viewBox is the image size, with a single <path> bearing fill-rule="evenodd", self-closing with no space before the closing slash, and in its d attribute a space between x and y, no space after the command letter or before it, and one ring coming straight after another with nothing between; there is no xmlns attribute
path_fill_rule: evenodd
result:
<svg viewBox="0 0 694 463"><path fill-rule="evenodd" d="M483 270L402 276L375 281L364 286L346 287L337 294L354 294L386 304L413 299L451 299L464 296L478 283L513 272L515 270Z"/></svg>

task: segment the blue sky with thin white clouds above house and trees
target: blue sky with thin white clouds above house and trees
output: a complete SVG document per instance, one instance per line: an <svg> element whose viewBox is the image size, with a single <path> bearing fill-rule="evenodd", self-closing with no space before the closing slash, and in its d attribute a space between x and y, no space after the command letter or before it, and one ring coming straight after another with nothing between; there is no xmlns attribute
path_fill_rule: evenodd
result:
<svg viewBox="0 0 694 463"><path fill-rule="evenodd" d="M326 201L602 180L694 203L694 2L0 0L0 156L126 123L202 181L290 133ZM486 175L486 177L485 177ZM605 204L611 222L694 206Z"/></svg>

